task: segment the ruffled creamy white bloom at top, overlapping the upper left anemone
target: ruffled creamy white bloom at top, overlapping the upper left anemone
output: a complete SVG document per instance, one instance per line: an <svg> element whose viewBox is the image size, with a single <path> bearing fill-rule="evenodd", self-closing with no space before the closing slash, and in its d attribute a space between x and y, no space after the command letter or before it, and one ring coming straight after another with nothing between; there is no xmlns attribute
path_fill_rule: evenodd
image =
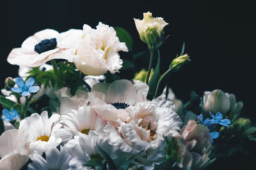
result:
<svg viewBox="0 0 256 170"><path fill-rule="evenodd" d="M112 74L122 67L119 51L127 52L125 43L120 43L116 31L99 22L97 29L83 26L83 39L77 45L73 62L84 74L99 76L107 71Z"/></svg>

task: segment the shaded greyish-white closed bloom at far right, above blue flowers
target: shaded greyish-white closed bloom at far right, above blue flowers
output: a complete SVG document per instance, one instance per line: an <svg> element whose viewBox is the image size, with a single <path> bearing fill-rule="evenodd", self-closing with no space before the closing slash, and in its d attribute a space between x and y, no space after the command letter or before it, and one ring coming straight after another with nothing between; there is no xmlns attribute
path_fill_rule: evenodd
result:
<svg viewBox="0 0 256 170"><path fill-rule="evenodd" d="M224 93L219 89L204 92L203 101L205 112L221 112L224 115L229 112L232 117L238 117L243 108L243 103L241 101L237 103L234 94Z"/></svg>

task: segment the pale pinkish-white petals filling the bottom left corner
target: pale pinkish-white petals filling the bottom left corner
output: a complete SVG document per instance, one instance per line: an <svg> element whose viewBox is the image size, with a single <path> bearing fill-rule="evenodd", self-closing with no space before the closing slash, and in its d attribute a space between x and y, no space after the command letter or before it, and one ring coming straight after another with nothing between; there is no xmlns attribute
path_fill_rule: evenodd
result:
<svg viewBox="0 0 256 170"><path fill-rule="evenodd" d="M30 153L25 131L11 129L0 136L0 169L21 169Z"/></svg>

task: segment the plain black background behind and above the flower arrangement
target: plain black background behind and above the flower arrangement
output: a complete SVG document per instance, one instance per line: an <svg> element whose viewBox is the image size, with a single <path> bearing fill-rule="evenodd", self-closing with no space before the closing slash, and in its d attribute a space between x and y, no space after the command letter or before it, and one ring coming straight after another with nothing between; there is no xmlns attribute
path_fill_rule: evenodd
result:
<svg viewBox="0 0 256 170"><path fill-rule="evenodd" d="M147 50L133 20L142 19L147 11L169 23L164 29L170 38L161 48L161 71L180 53L183 41L191 57L179 76L170 80L177 97L186 101L191 90L202 96L205 90L221 89L243 101L242 116L255 121L256 15L248 1L1 1L0 87L7 76L17 76L18 66L6 61L8 53L45 28L63 32L82 29L83 24L95 27L101 21L126 29L134 53Z"/></svg>

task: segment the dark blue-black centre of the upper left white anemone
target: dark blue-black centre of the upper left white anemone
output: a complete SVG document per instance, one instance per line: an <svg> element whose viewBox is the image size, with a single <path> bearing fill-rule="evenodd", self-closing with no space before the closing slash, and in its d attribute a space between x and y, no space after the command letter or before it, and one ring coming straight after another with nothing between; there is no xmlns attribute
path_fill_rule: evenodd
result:
<svg viewBox="0 0 256 170"><path fill-rule="evenodd" d="M51 38L51 39L44 39L37 45L35 45L35 52L37 53L43 53L47 52L49 50L53 50L57 46L57 41L56 38Z"/></svg>

